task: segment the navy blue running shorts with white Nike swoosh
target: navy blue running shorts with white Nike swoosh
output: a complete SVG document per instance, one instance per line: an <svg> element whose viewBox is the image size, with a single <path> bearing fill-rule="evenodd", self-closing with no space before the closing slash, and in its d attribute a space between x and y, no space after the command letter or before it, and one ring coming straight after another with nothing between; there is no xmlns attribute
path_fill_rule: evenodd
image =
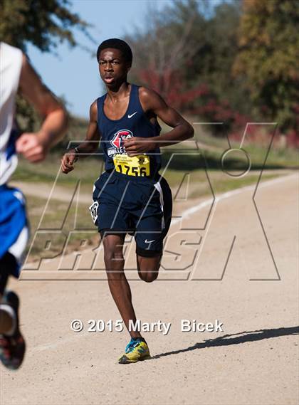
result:
<svg viewBox="0 0 299 405"><path fill-rule="evenodd" d="M102 238L134 235L140 256L162 255L172 219L172 192L163 177L132 177L104 172L95 182L90 214Z"/></svg>

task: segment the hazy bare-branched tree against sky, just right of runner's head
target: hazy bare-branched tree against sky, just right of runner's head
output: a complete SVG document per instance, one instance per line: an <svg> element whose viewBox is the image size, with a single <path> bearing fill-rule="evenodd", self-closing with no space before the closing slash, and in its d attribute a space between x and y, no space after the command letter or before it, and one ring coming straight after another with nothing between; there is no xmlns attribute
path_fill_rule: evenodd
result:
<svg viewBox="0 0 299 405"><path fill-rule="evenodd" d="M204 23L195 0L174 1L159 12L152 7L145 30L127 36L134 51L132 75L159 90L167 100L172 99L182 84L186 63L205 42Z"/></svg>

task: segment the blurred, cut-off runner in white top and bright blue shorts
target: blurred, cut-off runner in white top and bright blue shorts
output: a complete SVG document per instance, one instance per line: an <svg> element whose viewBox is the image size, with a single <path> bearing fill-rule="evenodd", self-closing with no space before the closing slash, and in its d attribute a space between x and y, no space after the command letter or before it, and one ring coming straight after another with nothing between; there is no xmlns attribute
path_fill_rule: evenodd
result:
<svg viewBox="0 0 299 405"><path fill-rule="evenodd" d="M18 90L44 120L38 132L24 133L17 139L14 108ZM29 162L41 162L66 128L67 115L61 103L43 85L23 53L0 42L0 359L9 369L20 367L25 342L19 330L19 298L4 290L9 275L19 276L28 221L23 194L7 182L18 164L16 152Z"/></svg>

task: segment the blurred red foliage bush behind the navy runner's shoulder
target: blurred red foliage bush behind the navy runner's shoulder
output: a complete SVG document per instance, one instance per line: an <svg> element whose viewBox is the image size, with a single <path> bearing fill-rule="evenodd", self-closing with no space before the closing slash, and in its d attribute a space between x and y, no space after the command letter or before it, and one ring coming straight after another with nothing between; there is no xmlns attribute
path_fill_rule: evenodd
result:
<svg viewBox="0 0 299 405"><path fill-rule="evenodd" d="M229 100L219 100L219 97L206 83L186 90L182 75L178 71L164 70L162 75L159 75L157 70L147 68L138 73L139 79L162 94L169 105L188 115L198 117L198 119L196 118L198 121L211 122L210 130L215 136L225 137L229 134L230 140L239 142L246 130L246 142L259 144L269 144L270 138L273 137L274 127L269 127L269 130L265 132L265 126L251 123L249 117L231 108ZM293 110L299 128L299 105L295 105ZM261 112L266 114L267 111L266 105L261 107ZM224 125L212 125L213 122L223 122ZM273 146L280 143L279 135L281 134L276 130ZM286 146L299 147L298 131L290 130L288 132Z"/></svg>

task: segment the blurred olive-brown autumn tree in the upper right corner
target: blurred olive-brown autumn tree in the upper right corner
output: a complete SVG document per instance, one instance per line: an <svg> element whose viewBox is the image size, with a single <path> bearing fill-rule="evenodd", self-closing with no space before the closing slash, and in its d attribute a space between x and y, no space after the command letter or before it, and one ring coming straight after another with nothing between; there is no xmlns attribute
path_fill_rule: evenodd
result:
<svg viewBox="0 0 299 405"><path fill-rule="evenodd" d="M243 0L234 73L244 78L260 117L298 134L299 2Z"/></svg>

